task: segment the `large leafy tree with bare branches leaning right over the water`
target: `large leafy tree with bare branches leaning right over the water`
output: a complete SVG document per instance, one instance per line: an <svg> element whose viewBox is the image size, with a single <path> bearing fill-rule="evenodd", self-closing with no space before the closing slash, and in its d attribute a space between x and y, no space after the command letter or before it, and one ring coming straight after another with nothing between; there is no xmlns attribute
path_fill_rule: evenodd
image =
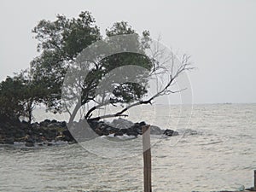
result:
<svg viewBox="0 0 256 192"><path fill-rule="evenodd" d="M61 89L64 83L65 75L70 68L72 72L77 72L77 68L83 68L73 65L78 63L79 54L88 46L97 41L102 40L106 42L104 49L116 49L119 46L131 46L137 50L137 53L124 52L119 54L108 55L106 57L95 57L93 60L86 61L86 70L89 72L86 78L77 78L72 75L69 77L75 82L77 90L68 88L70 94L69 106L66 107L67 113L70 114L70 120L73 121L74 116L80 108L88 107L84 112L85 119L104 119L109 117L126 116L124 113L132 107L141 104L152 103L152 101L162 95L170 94L172 84L180 73L185 70L191 69L189 67L189 56L183 55L181 65L174 70L173 55L165 55L165 50L159 49L157 46L153 50L152 56L146 55L146 51L150 50L150 35L148 31L144 31L142 38L138 33L132 29L127 22L121 21L114 23L112 27L106 30L106 38L100 34L99 27L96 26L96 21L89 12L82 12L78 18L67 19L64 15L57 15L55 21L41 20L38 26L32 30L36 34L35 38L38 39L38 52L40 55L36 57L32 63L32 79L36 84L41 84L40 88L46 93L42 100L49 110L54 113L61 113L63 106L61 105ZM129 42L123 41L119 35L133 34L133 38ZM116 37L115 41L111 41L112 37ZM98 49L97 47L95 48ZM152 49L151 49L152 50ZM93 55L94 53L91 52ZM163 62L158 61L158 57L165 57ZM163 67L161 64L171 61L170 67ZM102 91L97 93L97 86L101 84L102 80L106 79L108 73L113 69L125 67L128 65L143 67L148 70L147 73L137 74L138 82L111 82L110 86L113 88L111 91ZM76 66L76 67L74 67ZM83 71L83 70L82 70ZM164 86L160 87L158 91L147 99L143 97L148 93L148 79L158 74L170 72L168 78L165 79ZM83 75L81 75L83 77ZM125 74L122 79L127 79ZM76 97L78 91L81 92L81 98ZM96 96L100 96L100 100L96 100ZM74 101L79 101L79 105L75 105L73 112L69 109L73 107ZM91 105L93 103L93 105ZM108 105L117 106L121 104L125 107L114 114L105 114L98 117L93 117L93 112L96 109L106 107Z"/></svg>

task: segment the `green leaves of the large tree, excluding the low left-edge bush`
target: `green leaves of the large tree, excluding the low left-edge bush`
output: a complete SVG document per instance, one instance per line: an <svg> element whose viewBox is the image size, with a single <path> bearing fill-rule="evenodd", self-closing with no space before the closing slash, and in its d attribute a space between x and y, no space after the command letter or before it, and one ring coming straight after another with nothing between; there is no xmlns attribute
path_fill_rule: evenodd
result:
<svg viewBox="0 0 256 192"><path fill-rule="evenodd" d="M32 30L35 38L38 39L38 51L40 55L32 63L32 76L36 84L41 84L46 95L42 98L44 104L53 112L61 113L61 86L67 73L68 67L75 61L77 55L90 44L103 39L95 19L89 12L82 12L78 18L67 19L64 15L57 15L55 21L41 20L38 26ZM113 24L106 30L106 41L109 37L123 34L137 34L127 22L121 21ZM127 44L122 38L117 42L108 44L106 49L113 49L114 46L129 46L143 53L148 49L150 41L149 32L143 32L143 39L136 36ZM104 39L103 39L104 40ZM109 42L108 42L109 43ZM152 61L145 55L134 53L121 53L110 55L90 65L90 72L84 79L82 89L82 105L94 101L96 97L97 84L107 73L117 67L126 65L137 65L148 70L153 67ZM125 78L125 77L124 77ZM132 102L139 100L147 94L147 82L142 84L115 84L111 95L111 102Z"/></svg>

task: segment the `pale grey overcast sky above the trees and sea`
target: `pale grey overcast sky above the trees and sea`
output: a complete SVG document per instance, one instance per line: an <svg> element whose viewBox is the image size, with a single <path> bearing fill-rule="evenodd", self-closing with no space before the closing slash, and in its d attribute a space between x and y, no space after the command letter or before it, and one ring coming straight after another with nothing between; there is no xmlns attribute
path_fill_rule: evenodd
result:
<svg viewBox="0 0 256 192"><path fill-rule="evenodd" d="M88 10L104 32L125 20L179 53L191 55L194 103L256 102L254 0L1 0L0 80L29 67L38 55L32 28L55 15Z"/></svg>

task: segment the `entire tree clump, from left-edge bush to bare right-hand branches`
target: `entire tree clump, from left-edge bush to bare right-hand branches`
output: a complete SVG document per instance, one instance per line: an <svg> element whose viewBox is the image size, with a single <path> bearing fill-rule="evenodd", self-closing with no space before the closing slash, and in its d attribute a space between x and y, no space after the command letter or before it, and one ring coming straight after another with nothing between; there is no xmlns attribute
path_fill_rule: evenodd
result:
<svg viewBox="0 0 256 192"><path fill-rule="evenodd" d="M151 103L158 96L172 93L170 88L177 76L183 71L191 69L189 56L183 55L180 66L174 70L173 55L165 55L165 51L159 49L158 46L156 49L152 49L150 33L145 30L139 34L125 21L114 23L113 26L106 29L105 34L102 34L100 28L96 26L96 20L88 11L81 12L77 18L56 15L55 20L40 20L32 32L38 40L38 56L31 61L29 70L16 74L14 78L8 77L1 82L0 116L2 118L26 117L31 122L32 110L38 103L44 103L46 108L53 113L67 112L72 120L79 109L84 106L87 106L87 110L84 111L85 119L123 116L125 111L132 107ZM127 42L123 38L119 38L121 35L133 36ZM111 40L113 37L114 41ZM85 66L80 65L79 67L86 67L88 71L85 79L72 77L81 92L80 105L73 106L75 102L70 102L70 106L63 106L61 93L67 73L70 70L76 71L73 64L78 63L81 52L99 41L104 42L104 49L109 52L122 47L124 50L132 48L137 53L124 51L95 57L93 61L86 61ZM148 50L153 51L152 56L146 54ZM161 59L164 57L162 62L158 61L160 57ZM170 67L161 66L170 61ZM113 89L110 92L102 92L101 101L96 100L99 95L97 89L101 82L107 79L109 73L114 69L125 66L143 67L148 72L147 74L135 73L137 82L125 81L129 77L123 73L121 75L122 82L110 82ZM164 80L163 86L153 96L145 99L149 84L148 79L144 77L162 75L166 72L168 72L168 78ZM76 99L73 94L70 94L70 97ZM96 109L119 104L123 106L123 109L118 113L93 116ZM70 111L70 107L74 108L73 111Z"/></svg>

